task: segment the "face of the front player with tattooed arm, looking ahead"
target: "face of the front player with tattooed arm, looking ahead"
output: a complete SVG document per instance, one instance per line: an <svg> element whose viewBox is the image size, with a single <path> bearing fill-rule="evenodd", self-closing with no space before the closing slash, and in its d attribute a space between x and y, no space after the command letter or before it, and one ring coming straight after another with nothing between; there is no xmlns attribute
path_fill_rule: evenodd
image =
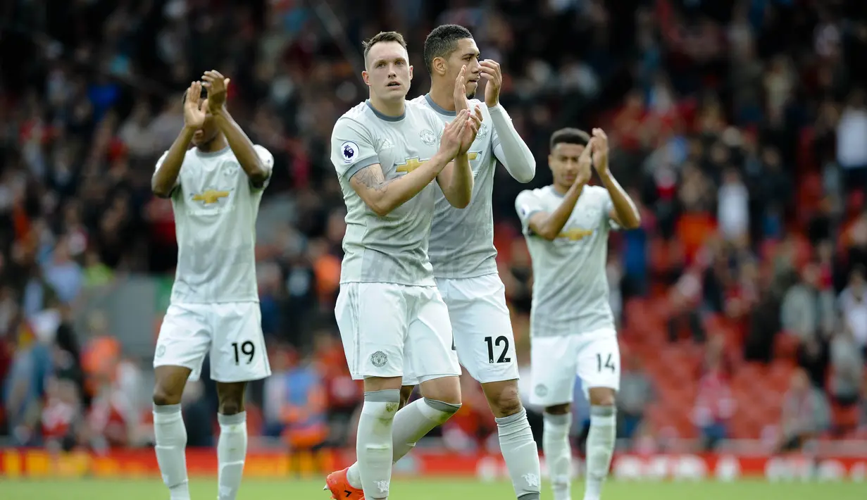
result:
<svg viewBox="0 0 867 500"><path fill-rule="evenodd" d="M407 49L398 42L379 42L368 52L368 68L362 73L370 91L383 101L403 100L413 80Z"/></svg>

